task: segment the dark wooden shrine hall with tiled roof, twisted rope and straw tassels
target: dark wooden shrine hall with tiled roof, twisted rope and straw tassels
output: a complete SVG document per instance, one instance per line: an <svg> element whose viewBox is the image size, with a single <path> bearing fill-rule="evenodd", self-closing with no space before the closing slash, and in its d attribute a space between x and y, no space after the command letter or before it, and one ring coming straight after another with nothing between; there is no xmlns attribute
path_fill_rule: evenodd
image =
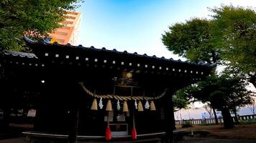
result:
<svg viewBox="0 0 256 143"><path fill-rule="evenodd" d="M49 44L1 51L0 109L33 109L25 142L173 142L173 94L214 66Z"/></svg>

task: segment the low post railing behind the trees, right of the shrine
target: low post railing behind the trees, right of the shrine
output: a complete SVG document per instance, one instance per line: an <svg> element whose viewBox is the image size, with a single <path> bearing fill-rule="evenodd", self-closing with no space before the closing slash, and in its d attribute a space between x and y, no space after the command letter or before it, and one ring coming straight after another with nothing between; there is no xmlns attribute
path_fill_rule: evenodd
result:
<svg viewBox="0 0 256 143"><path fill-rule="evenodd" d="M232 117L234 120L234 117ZM247 119L256 119L256 114L250 114L250 115L243 115L238 117L239 120L247 120ZM223 123L222 118L218 118L219 123ZM175 120L176 125L182 125L190 123L192 125L196 124L215 124L215 119L185 119L185 120Z"/></svg>

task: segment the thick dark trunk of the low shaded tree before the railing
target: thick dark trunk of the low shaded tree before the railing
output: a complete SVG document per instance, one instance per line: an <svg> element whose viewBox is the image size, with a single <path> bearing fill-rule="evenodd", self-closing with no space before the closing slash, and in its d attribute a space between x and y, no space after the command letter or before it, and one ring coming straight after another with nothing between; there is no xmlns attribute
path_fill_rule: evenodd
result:
<svg viewBox="0 0 256 143"><path fill-rule="evenodd" d="M223 107L221 109L221 114L224 120L224 128L225 129L232 129L234 128L234 121L231 117L229 109L227 107Z"/></svg>

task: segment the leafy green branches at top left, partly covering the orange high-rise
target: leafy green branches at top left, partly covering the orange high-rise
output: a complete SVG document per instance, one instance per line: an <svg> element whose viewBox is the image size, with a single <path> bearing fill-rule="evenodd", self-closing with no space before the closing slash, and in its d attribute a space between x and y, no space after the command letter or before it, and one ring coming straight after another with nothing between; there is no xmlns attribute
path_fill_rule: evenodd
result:
<svg viewBox="0 0 256 143"><path fill-rule="evenodd" d="M60 27L67 10L76 9L81 0L1 0L0 50L26 50L23 36L47 36Z"/></svg>

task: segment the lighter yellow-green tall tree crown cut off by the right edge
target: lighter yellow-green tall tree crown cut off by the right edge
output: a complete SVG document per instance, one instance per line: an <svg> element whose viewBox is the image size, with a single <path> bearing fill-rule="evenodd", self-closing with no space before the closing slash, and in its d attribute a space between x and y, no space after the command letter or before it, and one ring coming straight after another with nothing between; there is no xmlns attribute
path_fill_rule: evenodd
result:
<svg viewBox="0 0 256 143"><path fill-rule="evenodd" d="M211 33L214 45L221 49L221 59L247 74L256 87L256 12L234 6L211 9Z"/></svg>

